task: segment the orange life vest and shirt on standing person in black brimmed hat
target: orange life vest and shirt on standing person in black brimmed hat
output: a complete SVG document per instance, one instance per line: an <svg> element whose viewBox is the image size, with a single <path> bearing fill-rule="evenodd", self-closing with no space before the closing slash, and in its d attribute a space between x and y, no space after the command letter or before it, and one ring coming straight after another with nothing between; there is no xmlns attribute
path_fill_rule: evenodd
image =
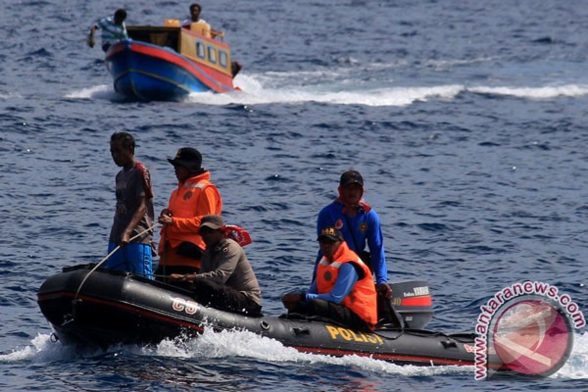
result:
<svg viewBox="0 0 588 392"><path fill-rule="evenodd" d="M202 250L206 245L199 236L200 220L209 214L220 215L222 210L222 198L216 186L210 182L211 174L204 172L201 175L191 177L180 183L169 197L168 209L172 212L173 223L163 225L161 240L159 241L159 254L163 254L164 244L176 248L184 241L191 242ZM213 190L212 198L203 197L205 190ZM200 260L188 257L176 257L175 252L165 252L160 263L166 265L200 266Z"/></svg>

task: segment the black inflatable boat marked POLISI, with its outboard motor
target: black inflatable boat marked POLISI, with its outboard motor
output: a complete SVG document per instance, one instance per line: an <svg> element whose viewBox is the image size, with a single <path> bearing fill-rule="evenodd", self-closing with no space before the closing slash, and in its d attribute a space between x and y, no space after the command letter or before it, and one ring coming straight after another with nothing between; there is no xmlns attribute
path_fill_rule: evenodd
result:
<svg viewBox="0 0 588 392"><path fill-rule="evenodd" d="M422 329L433 315L426 282L391 284L395 310L373 333L365 333L316 317L228 313L196 303L178 287L100 268L89 274L93 267L66 267L39 289L39 307L64 344L158 343L209 326L249 330L306 353L426 366L474 364L474 334Z"/></svg>

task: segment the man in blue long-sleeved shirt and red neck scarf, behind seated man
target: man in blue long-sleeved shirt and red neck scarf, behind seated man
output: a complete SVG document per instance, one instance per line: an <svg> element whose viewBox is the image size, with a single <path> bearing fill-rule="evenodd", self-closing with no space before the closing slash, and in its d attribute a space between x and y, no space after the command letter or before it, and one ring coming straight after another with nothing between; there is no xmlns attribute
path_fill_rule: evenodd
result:
<svg viewBox="0 0 588 392"><path fill-rule="evenodd" d="M390 297L380 218L362 196L362 175L356 170L347 170L339 180L339 197L320 211L316 229L319 235L325 227L340 230L349 249L359 254L375 275L377 292ZM365 252L366 244L369 253ZM319 252L317 263L322 256Z"/></svg>

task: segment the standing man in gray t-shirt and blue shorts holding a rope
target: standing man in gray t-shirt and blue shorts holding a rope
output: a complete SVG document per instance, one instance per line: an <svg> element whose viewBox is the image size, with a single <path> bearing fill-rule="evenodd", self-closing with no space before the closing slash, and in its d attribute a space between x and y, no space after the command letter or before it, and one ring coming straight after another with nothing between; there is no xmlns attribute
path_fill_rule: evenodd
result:
<svg viewBox="0 0 588 392"><path fill-rule="evenodd" d="M116 211L108 240L108 253L116 247L120 249L106 260L103 267L153 279L153 236L152 231L148 230L153 226L154 216L151 175L135 159L134 154L135 139L130 133L112 134L112 160L122 170L116 175Z"/></svg>

